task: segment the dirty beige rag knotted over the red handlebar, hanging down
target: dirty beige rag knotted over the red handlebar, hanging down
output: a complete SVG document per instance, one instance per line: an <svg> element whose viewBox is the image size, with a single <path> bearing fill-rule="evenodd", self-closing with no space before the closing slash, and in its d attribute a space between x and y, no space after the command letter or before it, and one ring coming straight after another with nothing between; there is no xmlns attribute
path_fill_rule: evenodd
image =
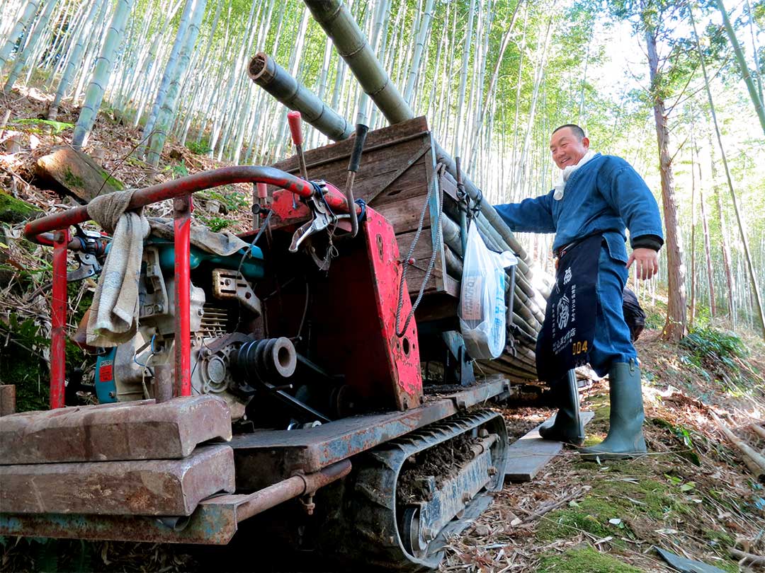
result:
<svg viewBox="0 0 765 573"><path fill-rule="evenodd" d="M86 340L91 346L120 345L138 330L138 278L149 224L142 209L125 211L134 192L125 189L99 196L87 207L90 219L112 235L88 316Z"/></svg>

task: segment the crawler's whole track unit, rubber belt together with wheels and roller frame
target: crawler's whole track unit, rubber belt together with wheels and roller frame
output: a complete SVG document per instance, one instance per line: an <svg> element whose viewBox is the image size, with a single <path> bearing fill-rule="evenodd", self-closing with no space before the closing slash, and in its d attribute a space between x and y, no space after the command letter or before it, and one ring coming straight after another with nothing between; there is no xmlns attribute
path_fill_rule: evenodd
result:
<svg viewBox="0 0 765 573"><path fill-rule="evenodd" d="M449 506L454 516L444 513L439 520L433 511L434 503L426 499L402 503L397 498L399 479L407 461L464 435L488 447L474 447L473 452L480 453L465 462L464 471L455 472L454 478L425 480L431 484L431 493L435 487L439 503L447 502L443 503L444 511ZM373 448L354 458L340 516L343 535L332 536L334 546L327 549L386 571L437 568L444 555L446 536L460 533L483 513L491 500L487 492L502 489L507 462L505 422L499 413L490 410L436 422ZM462 474L467 478L461 479ZM479 482L471 478L478 474ZM466 484L471 479L474 487L468 492Z"/></svg>

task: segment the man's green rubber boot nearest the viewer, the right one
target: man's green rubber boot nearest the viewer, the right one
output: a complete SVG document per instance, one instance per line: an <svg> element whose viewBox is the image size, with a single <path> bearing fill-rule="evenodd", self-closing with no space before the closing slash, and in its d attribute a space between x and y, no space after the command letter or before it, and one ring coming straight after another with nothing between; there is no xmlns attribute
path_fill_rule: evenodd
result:
<svg viewBox="0 0 765 573"><path fill-rule="evenodd" d="M635 458L646 450L643 437L643 393L640 368L635 362L617 362L608 372L610 387L610 427L606 439L591 448L581 448L586 460Z"/></svg>

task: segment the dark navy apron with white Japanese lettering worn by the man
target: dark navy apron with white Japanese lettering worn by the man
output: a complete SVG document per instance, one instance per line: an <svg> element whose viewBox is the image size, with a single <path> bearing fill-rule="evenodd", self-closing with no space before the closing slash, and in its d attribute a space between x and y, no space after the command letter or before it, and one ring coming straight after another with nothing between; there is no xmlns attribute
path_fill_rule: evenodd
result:
<svg viewBox="0 0 765 573"><path fill-rule="evenodd" d="M593 235L563 252L558 261L545 322L536 339L539 380L553 383L587 364L595 338L597 271L602 235Z"/></svg>

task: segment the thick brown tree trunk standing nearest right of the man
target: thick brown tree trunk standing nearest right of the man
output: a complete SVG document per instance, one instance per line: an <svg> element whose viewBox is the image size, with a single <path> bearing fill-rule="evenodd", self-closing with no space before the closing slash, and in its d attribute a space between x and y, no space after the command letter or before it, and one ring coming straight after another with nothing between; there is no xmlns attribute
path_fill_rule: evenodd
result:
<svg viewBox="0 0 765 573"><path fill-rule="evenodd" d="M677 217L675 183L672 174L672 160L669 157L669 126L664 98L659 86L659 55L656 53L656 36L653 27L646 25L646 47L651 75L653 97L653 119L656 122L656 141L659 144L659 169L662 182L662 205L666 226L665 250L667 254L667 279L669 293L667 319L662 331L665 340L679 341L685 336L685 267L682 264L682 237Z"/></svg>

